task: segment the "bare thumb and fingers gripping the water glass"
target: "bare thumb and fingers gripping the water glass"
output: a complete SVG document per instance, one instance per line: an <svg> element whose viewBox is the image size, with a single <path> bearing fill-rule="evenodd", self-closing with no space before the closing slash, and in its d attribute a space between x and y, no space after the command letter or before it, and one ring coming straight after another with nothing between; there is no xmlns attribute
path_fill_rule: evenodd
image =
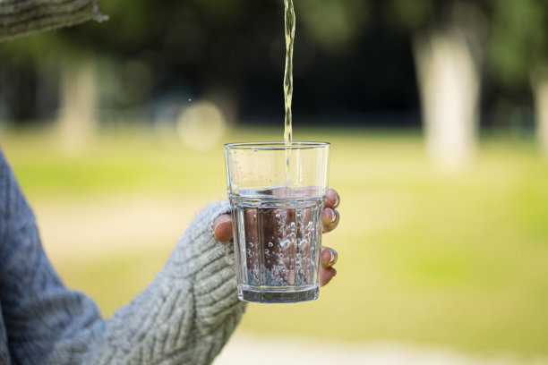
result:
<svg viewBox="0 0 548 365"><path fill-rule="evenodd" d="M330 189L327 192L325 208L321 216L323 233L328 233L337 227L340 216L336 208L339 201L338 192ZM229 242L232 240L232 217L228 214L218 216L213 222L213 232L215 233L215 238L220 242ZM337 275L337 270L333 267L337 259L338 254L336 250L325 246L321 247L321 286L328 284L333 276Z"/></svg>

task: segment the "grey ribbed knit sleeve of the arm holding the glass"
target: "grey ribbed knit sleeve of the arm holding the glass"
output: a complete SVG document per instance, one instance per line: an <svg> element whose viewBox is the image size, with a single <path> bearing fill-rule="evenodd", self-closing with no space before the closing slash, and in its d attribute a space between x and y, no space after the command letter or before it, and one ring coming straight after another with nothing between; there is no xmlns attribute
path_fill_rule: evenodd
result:
<svg viewBox="0 0 548 365"><path fill-rule="evenodd" d="M154 281L102 319L56 275L0 151L0 364L209 364L244 312L233 250L211 228L228 208L201 210Z"/></svg>

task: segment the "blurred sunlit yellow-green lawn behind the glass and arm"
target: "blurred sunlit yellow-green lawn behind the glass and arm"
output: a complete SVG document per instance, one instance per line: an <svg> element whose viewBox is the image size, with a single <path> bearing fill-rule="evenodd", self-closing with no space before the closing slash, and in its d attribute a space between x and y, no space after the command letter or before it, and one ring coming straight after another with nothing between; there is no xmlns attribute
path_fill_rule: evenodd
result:
<svg viewBox="0 0 548 365"><path fill-rule="evenodd" d="M235 131L226 140L279 135ZM342 220L324 243L339 252L338 276L319 301L250 305L242 329L548 354L548 164L530 143L485 139L474 166L448 175L428 164L416 133L297 128L295 136L332 142L330 185L340 192ZM41 227L51 233L46 248L87 207L108 215L111 200L147 199L147 229L158 244L122 242L124 233L114 232L122 209L103 239L114 235L107 246L129 249L80 255L80 237L97 234L90 219L89 232L65 238L72 253L52 250L65 282L89 293L107 316L152 280L183 232L184 225L155 231L166 220L155 215L166 201L194 212L226 194L220 146L195 152L137 132L101 138L75 155L38 135L4 134L0 144L39 222L51 223ZM57 207L73 213L56 219Z"/></svg>

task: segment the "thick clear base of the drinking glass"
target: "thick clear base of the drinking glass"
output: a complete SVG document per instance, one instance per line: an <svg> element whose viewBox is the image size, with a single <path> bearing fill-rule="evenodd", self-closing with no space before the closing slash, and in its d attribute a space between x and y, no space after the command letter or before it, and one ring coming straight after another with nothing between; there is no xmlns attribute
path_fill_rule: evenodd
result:
<svg viewBox="0 0 548 365"><path fill-rule="evenodd" d="M296 303L299 301L315 301L320 295L318 285L307 286L238 286L240 301L256 303Z"/></svg>

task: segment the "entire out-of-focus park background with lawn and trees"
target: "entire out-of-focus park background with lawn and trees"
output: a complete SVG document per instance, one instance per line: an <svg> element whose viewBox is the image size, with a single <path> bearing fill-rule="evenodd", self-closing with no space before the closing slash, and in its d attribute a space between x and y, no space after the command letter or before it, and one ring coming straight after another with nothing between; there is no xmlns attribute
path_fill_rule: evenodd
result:
<svg viewBox="0 0 548 365"><path fill-rule="evenodd" d="M0 144L108 317L225 199L222 144L282 139L285 41L282 0L99 5L109 21L1 45ZM548 363L548 4L295 12L294 135L332 143L338 276L250 305L217 363Z"/></svg>

